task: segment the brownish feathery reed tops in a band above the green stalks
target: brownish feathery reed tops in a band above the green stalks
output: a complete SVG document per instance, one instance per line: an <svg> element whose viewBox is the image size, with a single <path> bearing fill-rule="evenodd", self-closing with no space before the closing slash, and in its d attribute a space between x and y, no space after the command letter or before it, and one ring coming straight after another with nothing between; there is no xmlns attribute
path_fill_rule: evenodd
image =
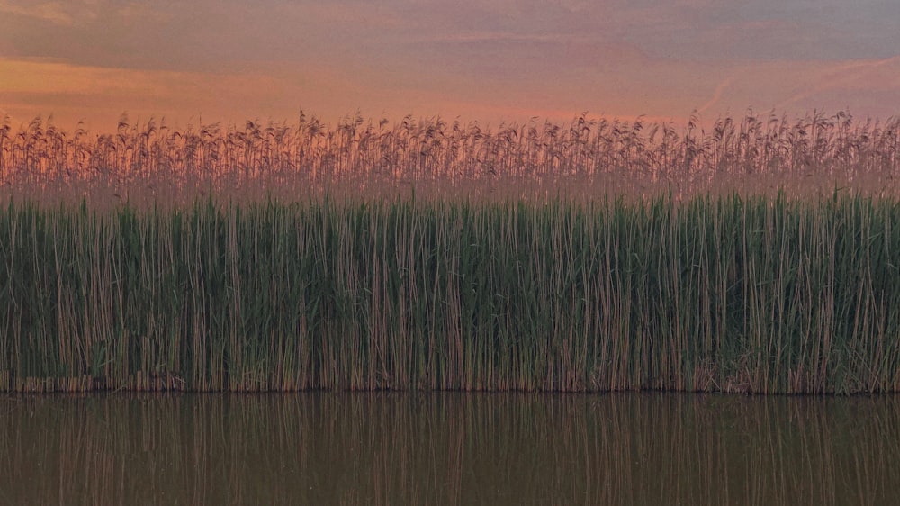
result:
<svg viewBox="0 0 900 506"><path fill-rule="evenodd" d="M430 185L446 196L533 197L563 192L658 194L710 190L744 194L778 189L828 194L835 185L900 193L900 118L860 121L814 112L795 120L776 113L726 116L706 128L591 118L500 124L367 120L337 125L301 113L296 122L219 123L183 130L165 122L129 122L114 133L63 131L35 119L0 124L0 195L189 204L200 193L291 200L310 190L396 194ZM515 185L509 185L514 181Z"/></svg>

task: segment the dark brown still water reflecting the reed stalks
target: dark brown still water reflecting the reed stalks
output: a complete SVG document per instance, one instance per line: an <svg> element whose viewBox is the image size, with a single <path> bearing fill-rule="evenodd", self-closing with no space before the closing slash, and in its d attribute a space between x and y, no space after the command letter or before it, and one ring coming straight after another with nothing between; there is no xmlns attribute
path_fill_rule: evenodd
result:
<svg viewBox="0 0 900 506"><path fill-rule="evenodd" d="M0 397L2 504L890 504L900 398Z"/></svg>

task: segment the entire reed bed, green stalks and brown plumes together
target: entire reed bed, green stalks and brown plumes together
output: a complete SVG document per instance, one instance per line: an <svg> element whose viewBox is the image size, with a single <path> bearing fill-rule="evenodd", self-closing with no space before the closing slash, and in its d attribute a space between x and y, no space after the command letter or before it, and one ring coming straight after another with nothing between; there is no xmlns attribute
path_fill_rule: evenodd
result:
<svg viewBox="0 0 900 506"><path fill-rule="evenodd" d="M363 123L0 128L0 390L900 390L898 122Z"/></svg>

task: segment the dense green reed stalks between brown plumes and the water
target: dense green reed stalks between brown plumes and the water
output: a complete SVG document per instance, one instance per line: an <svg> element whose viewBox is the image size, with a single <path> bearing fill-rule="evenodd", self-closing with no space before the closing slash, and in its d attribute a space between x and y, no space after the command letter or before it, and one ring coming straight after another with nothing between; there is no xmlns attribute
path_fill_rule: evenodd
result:
<svg viewBox="0 0 900 506"><path fill-rule="evenodd" d="M0 389L900 389L900 202L0 214Z"/></svg>

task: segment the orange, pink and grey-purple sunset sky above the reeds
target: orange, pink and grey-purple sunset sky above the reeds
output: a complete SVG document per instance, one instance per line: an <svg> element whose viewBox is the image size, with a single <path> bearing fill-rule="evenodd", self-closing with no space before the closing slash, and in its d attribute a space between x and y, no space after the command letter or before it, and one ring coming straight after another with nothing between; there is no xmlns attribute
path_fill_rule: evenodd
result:
<svg viewBox="0 0 900 506"><path fill-rule="evenodd" d="M0 0L0 119L900 115L896 0Z"/></svg>

